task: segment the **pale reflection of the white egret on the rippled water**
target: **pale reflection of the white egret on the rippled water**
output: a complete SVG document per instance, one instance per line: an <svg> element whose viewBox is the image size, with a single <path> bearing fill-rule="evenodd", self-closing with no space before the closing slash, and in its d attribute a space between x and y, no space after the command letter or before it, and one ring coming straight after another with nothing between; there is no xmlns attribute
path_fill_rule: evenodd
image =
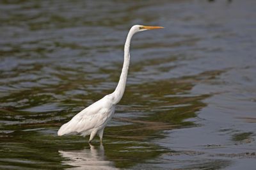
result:
<svg viewBox="0 0 256 170"><path fill-rule="evenodd" d="M116 169L113 162L104 160L104 146L95 148L90 144L90 149L81 151L59 151L61 157L65 158L61 163L73 166L68 169Z"/></svg>

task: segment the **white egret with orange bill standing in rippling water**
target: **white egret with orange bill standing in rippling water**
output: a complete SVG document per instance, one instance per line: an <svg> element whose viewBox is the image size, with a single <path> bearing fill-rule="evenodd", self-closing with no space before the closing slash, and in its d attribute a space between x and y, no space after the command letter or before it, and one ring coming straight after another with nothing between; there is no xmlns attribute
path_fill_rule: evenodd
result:
<svg viewBox="0 0 256 170"><path fill-rule="evenodd" d="M140 31L160 28L163 27L140 25L131 27L124 45L124 65L115 91L101 98L94 104L86 107L83 109L83 111L77 113L76 116L72 118L72 120L68 121L68 123L65 123L60 127L58 130L58 135L65 135L76 132L85 137L86 135L90 134L89 143L91 143L93 137L98 134L100 137L100 142L102 142L104 128L106 127L108 121L111 120L115 112L116 104L118 104L124 95L130 62L130 44L132 36Z"/></svg>

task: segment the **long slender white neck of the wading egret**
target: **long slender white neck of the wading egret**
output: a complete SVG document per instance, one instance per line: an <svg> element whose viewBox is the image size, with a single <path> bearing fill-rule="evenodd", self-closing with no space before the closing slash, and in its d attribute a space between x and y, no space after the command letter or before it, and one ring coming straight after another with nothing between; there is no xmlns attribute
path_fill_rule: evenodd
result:
<svg viewBox="0 0 256 170"><path fill-rule="evenodd" d="M127 35L126 42L124 45L124 65L122 68L122 73L120 75L119 82L116 86L115 91L111 94L113 96L113 103L117 104L120 102L121 98L124 95L125 90L125 84L127 79L127 73L129 69L129 63L130 63L130 44L131 44L131 38L136 33L133 29L131 29Z"/></svg>

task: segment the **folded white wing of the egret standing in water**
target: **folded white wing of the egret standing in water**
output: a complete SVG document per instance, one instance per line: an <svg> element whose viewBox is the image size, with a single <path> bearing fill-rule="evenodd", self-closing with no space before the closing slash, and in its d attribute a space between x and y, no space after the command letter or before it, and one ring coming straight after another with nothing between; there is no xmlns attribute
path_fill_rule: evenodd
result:
<svg viewBox="0 0 256 170"><path fill-rule="evenodd" d="M108 119L108 112L109 109L106 107L94 103L76 114L68 123L62 125L60 130L58 130L58 135L65 135L72 132L79 133L100 127Z"/></svg>

